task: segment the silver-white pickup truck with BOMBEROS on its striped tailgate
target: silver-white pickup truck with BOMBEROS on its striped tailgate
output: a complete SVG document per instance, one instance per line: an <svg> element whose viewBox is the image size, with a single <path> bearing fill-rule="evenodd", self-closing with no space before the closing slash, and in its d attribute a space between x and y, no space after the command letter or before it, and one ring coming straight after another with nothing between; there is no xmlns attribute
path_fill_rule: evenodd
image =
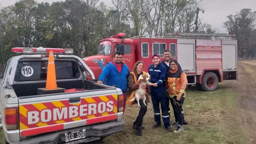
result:
<svg viewBox="0 0 256 144"><path fill-rule="evenodd" d="M12 48L21 54L0 72L3 144L79 144L123 131L122 91L87 80L94 74L71 50ZM38 93L46 85L49 51L57 86L85 91Z"/></svg>

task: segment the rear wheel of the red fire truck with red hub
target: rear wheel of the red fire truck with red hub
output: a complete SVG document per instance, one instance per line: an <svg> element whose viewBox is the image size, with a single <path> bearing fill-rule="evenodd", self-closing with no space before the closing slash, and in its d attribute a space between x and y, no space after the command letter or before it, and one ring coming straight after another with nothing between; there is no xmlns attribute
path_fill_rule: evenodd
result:
<svg viewBox="0 0 256 144"><path fill-rule="evenodd" d="M219 80L214 72L206 72L202 78L202 84L200 85L203 91L214 91L217 89Z"/></svg>

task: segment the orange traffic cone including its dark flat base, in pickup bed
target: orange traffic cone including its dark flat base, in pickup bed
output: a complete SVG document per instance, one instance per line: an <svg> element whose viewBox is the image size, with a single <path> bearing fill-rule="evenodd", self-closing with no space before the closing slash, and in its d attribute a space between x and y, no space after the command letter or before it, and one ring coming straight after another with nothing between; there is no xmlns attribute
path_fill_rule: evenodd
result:
<svg viewBox="0 0 256 144"><path fill-rule="evenodd" d="M64 90L65 89L63 88L57 87L53 51L50 51L47 68L46 87L37 88L37 94L60 93L64 92Z"/></svg>

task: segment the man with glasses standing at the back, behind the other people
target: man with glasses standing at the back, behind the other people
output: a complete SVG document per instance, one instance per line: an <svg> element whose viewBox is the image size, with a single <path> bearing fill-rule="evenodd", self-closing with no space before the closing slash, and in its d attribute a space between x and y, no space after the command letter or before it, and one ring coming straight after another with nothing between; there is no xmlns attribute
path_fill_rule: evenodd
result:
<svg viewBox="0 0 256 144"><path fill-rule="evenodd" d="M165 58L165 59L162 60L160 64L164 65L164 66L166 67L166 72L168 72L168 71L170 70L169 63L170 63L170 61L172 60L172 59L171 59L171 55L172 55L172 54L171 54L171 52L170 52L169 50L165 50L164 53L163 53L163 55L164 55L164 58ZM179 63L178 63L178 68L181 69L181 66L180 66ZM169 111L169 113L171 113L171 110L170 110L170 108L169 108L169 101L168 101L168 111ZM181 112L182 112L182 114L183 114L183 109L181 109ZM184 124L184 125L188 124L188 123L186 122L186 120L184 119L184 114L183 114L183 124ZM174 122L174 124L172 124L172 125L175 125L175 122Z"/></svg>

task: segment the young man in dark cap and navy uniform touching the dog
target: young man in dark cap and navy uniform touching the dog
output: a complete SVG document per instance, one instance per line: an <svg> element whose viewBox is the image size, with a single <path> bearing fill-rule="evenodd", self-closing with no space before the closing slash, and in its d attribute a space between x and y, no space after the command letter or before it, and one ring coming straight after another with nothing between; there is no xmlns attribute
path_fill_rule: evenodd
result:
<svg viewBox="0 0 256 144"><path fill-rule="evenodd" d="M158 54L153 55L152 61L154 64L150 65L148 68L148 73L151 76L150 82L153 83L153 86L150 86L151 100L153 104L155 120L155 124L152 127L155 128L161 125L159 108L160 103L164 126L167 131L172 131L170 125L170 116L168 113L169 99L166 97L165 89L166 68L164 65L160 64L160 58Z"/></svg>

